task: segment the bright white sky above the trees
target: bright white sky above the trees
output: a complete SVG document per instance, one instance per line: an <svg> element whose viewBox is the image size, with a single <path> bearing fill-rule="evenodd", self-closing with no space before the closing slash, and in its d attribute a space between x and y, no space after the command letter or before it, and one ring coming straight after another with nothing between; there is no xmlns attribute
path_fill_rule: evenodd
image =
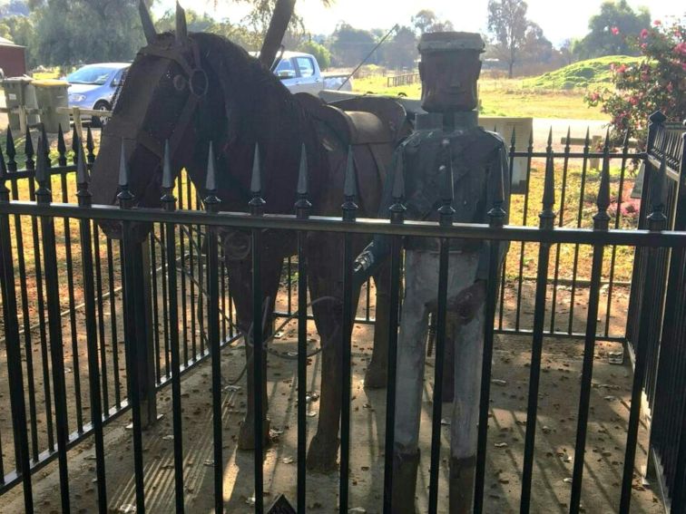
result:
<svg viewBox="0 0 686 514"><path fill-rule="evenodd" d="M217 18L240 21L248 7L231 0L180 0L181 5L206 12ZM175 0L158 0L155 11L173 8ZM214 5L217 5L215 9ZM341 21L358 28L390 29L394 24L410 24L410 18L420 9L431 9L436 15L453 22L456 30L486 31L487 0L333 0L324 7L320 0L298 0L296 11L312 34L330 34ZM587 33L589 18L600 11L601 0L527 0L528 17L541 25L553 44L568 38L580 38ZM629 0L634 9L649 5L652 19L684 15L680 0Z"/></svg>

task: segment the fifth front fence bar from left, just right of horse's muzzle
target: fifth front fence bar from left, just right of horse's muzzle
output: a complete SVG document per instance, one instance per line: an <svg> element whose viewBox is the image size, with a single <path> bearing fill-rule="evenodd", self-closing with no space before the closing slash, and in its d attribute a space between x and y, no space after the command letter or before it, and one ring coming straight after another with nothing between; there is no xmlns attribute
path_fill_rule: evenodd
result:
<svg viewBox="0 0 686 514"><path fill-rule="evenodd" d="M174 177L171 172L169 143L165 144L162 166L162 206L167 212L176 210L173 196ZM176 512L183 514L183 428L181 425L181 363L179 359L179 304L176 283L176 240L175 230L168 223L165 230L167 269L169 270L169 337L171 345L171 422L174 434L174 498ZM168 368L169 369L169 368Z"/></svg>

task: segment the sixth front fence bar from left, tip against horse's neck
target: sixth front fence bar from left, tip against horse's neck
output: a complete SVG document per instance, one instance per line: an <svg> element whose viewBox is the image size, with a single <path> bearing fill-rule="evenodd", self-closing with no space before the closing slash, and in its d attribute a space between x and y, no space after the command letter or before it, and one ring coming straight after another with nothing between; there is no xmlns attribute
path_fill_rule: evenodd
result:
<svg viewBox="0 0 686 514"><path fill-rule="evenodd" d="M210 142L207 160L207 180L205 189L207 197L204 199L208 214L216 214L220 209L220 199L217 198L217 178L215 173L214 150ZM214 435L214 511L224 511L224 461L221 456L221 347L220 347L220 310L219 310L219 243L217 229L211 226L207 230L207 253L209 267L207 272L208 291L208 320L207 330L210 338L210 352L212 355L212 428ZM200 260L200 259L199 259ZM261 384L261 382L260 382ZM259 385L261 389L261 385ZM260 412L261 417L261 412ZM256 495L257 496L257 495ZM257 498L256 498L257 501Z"/></svg>

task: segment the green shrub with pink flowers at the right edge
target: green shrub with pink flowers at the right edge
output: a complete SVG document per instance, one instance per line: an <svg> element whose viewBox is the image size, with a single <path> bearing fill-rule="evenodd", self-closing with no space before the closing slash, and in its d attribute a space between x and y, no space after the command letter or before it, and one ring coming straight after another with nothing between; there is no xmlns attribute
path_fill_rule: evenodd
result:
<svg viewBox="0 0 686 514"><path fill-rule="evenodd" d="M622 37L619 30L613 34ZM642 62L612 64L614 88L588 92L584 99L611 116L615 142L622 141L625 131L646 141L648 116L658 110L669 121L686 119L686 27L655 21L630 43L640 49Z"/></svg>

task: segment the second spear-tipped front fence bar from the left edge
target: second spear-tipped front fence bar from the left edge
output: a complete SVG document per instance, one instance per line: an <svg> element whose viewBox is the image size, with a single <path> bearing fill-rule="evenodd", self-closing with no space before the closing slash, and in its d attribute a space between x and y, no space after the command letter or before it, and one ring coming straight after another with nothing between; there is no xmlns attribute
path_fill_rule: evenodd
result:
<svg viewBox="0 0 686 514"><path fill-rule="evenodd" d="M50 205L52 192L49 189L50 175L48 170L45 148L47 142L38 140L38 167L35 179L39 188L35 193L38 204ZM62 509L70 511L69 500L69 470L67 467L67 448L69 428L66 407L66 386L64 378L64 349L62 342L62 317L60 312L60 291L57 273L56 241L54 237L54 219L49 216L41 217L41 233L43 236L43 257L45 269L45 291L48 310L48 331L50 333L50 362L53 371L53 391L55 421L57 422L57 452L59 454L60 494Z"/></svg>

